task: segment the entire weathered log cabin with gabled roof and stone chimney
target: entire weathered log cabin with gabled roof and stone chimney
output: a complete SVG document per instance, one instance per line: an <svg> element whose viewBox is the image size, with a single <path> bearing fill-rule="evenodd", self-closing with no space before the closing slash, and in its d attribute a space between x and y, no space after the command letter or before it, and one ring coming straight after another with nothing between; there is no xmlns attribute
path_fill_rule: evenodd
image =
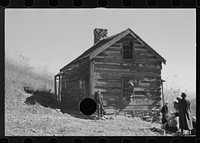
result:
<svg viewBox="0 0 200 143"><path fill-rule="evenodd" d="M94 98L97 90L106 110L159 109L162 63L166 60L131 29L107 37L106 29L96 28L94 45L55 75L61 109L78 110L80 101Z"/></svg>

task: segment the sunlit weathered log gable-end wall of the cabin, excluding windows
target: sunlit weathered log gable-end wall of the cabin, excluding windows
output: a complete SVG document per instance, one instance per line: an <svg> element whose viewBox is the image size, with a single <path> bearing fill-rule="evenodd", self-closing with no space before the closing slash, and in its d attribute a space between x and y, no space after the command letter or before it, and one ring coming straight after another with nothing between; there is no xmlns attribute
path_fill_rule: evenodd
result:
<svg viewBox="0 0 200 143"><path fill-rule="evenodd" d="M126 39L133 41L135 53L133 60L122 59L122 41ZM141 81L136 85L135 97L137 98L135 102L128 104L149 106L161 95L161 61L130 35L97 55L93 59L93 63L94 91L98 89L102 91L104 104L107 106L113 101L122 100L123 78ZM149 84L149 86L144 87L145 84ZM152 95L152 98L148 98L148 100L146 90L149 90Z"/></svg>

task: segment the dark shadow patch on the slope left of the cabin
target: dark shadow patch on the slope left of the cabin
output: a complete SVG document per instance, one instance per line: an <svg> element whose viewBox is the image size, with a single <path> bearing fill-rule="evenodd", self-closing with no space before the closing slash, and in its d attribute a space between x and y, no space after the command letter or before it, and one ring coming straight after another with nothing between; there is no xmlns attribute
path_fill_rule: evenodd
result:
<svg viewBox="0 0 200 143"><path fill-rule="evenodd" d="M34 91L31 87L24 87L26 93L32 94L32 96L27 97L25 103L28 105L34 105L39 103L41 106L50 108L60 108L58 102L55 99L55 95L51 93L51 90L38 89Z"/></svg>

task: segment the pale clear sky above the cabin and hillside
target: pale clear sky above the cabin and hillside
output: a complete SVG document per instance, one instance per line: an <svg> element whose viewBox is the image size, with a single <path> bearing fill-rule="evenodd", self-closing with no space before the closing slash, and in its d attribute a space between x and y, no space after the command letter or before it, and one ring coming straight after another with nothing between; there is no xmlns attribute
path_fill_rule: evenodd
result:
<svg viewBox="0 0 200 143"><path fill-rule="evenodd" d="M196 93L195 9L6 9L5 54L55 75L94 44L95 28L132 29L166 59L165 85Z"/></svg>

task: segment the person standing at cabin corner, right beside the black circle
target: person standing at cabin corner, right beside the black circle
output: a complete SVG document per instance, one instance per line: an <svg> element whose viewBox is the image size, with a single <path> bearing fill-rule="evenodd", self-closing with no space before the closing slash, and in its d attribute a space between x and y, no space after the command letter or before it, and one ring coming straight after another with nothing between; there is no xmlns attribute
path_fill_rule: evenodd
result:
<svg viewBox="0 0 200 143"><path fill-rule="evenodd" d="M97 103L98 119L100 119L103 116L103 95L101 94L100 90L95 92L95 101Z"/></svg>

